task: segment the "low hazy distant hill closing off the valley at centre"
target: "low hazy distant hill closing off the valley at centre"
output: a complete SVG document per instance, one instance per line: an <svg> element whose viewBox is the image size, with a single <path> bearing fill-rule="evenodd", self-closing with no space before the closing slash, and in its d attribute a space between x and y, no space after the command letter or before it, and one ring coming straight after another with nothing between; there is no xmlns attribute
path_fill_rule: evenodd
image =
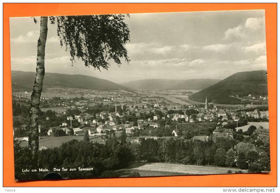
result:
<svg viewBox="0 0 280 193"><path fill-rule="evenodd" d="M201 90L219 81L216 79L144 79L124 82L121 85L138 90Z"/></svg>

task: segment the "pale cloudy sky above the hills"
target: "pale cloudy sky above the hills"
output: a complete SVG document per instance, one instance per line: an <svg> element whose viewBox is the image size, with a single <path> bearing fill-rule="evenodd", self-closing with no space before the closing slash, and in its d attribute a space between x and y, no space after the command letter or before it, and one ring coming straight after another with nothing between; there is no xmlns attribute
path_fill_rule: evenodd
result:
<svg viewBox="0 0 280 193"><path fill-rule="evenodd" d="M38 18L38 21L39 18ZM72 65L56 26L48 22L45 72L83 74L116 83L140 79L224 79L242 71L266 70L265 11L207 11L130 14L125 22L130 58L108 70ZM36 71L39 23L10 18L11 69Z"/></svg>

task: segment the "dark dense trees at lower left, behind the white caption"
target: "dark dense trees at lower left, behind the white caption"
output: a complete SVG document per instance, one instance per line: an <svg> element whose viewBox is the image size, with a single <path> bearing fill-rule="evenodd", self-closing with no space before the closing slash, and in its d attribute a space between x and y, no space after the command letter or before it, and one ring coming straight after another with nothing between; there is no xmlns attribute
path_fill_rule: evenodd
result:
<svg viewBox="0 0 280 193"><path fill-rule="evenodd" d="M28 157L28 148L21 147L19 142L15 141L15 177L19 180L43 179L48 172L22 172L22 169L30 169ZM126 144L124 132L120 140L114 133L109 135L105 144L90 142L89 138L85 137L84 141L71 140L60 147L40 150L38 168L47 168L50 172L53 168L58 168L58 173L63 178L117 177L112 171L125 168L133 161L134 155L130 145ZM68 171L61 171L62 167L68 168ZM79 167L93 170L78 171ZM77 171L69 171L69 168L76 168Z"/></svg>

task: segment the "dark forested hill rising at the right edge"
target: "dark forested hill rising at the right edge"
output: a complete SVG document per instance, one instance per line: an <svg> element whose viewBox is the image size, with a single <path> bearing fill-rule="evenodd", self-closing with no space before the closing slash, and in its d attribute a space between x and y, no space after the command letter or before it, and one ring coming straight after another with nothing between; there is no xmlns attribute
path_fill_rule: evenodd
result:
<svg viewBox="0 0 280 193"><path fill-rule="evenodd" d="M189 96L189 99L220 104L240 104L238 97L267 95L267 75L265 70L238 72L224 80L209 86L195 94ZM234 97L232 97L234 96Z"/></svg>

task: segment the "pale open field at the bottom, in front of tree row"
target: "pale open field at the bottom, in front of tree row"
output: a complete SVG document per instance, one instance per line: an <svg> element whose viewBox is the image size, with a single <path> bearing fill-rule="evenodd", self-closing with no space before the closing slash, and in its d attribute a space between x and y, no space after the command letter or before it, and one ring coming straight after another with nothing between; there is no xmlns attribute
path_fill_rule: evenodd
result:
<svg viewBox="0 0 280 193"><path fill-rule="evenodd" d="M137 170L141 176L227 174L228 170L231 170L232 173L239 170L236 168L171 163L135 163L128 169ZM246 173L246 170L243 170L243 172Z"/></svg>

